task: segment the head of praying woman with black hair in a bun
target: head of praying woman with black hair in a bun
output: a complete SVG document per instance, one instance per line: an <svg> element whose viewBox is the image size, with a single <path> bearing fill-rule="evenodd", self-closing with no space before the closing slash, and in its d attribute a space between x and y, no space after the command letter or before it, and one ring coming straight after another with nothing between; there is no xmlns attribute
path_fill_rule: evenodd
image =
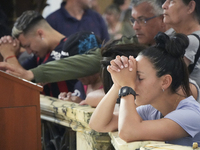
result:
<svg viewBox="0 0 200 150"><path fill-rule="evenodd" d="M186 35L172 37L158 33L156 45L138 54L135 91L137 105L153 104L162 94L172 95L183 88L184 96L190 95L188 69L184 62L189 44Z"/></svg>

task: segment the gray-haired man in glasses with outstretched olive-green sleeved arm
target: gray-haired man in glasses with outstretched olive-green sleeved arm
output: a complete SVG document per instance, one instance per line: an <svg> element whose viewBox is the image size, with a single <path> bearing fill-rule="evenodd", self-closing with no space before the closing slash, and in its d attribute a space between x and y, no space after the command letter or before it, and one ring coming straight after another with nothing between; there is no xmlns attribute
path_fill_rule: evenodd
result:
<svg viewBox="0 0 200 150"><path fill-rule="evenodd" d="M165 0L132 0L132 18L130 19L136 35L132 38L123 37L120 44L139 42L154 44L154 36L166 31L163 23L162 3ZM2 41L0 41L1 43ZM6 41L4 41L6 42ZM31 70L23 70L7 63L0 63L0 69L9 69L14 75L37 83L51 83L63 80L77 79L95 74L100 70L100 49L93 49L87 54L75 55L58 61L40 65ZM79 69L76 69L79 68ZM56 78L55 78L56 76Z"/></svg>

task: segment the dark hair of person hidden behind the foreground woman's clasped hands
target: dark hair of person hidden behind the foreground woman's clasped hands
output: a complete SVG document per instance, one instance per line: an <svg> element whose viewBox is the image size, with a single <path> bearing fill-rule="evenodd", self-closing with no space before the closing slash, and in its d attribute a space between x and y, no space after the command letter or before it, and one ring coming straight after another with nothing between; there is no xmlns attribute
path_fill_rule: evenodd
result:
<svg viewBox="0 0 200 150"><path fill-rule="evenodd" d="M101 78L103 82L104 92L107 93L113 81L110 73L107 71L107 66L110 65L110 61L119 56L134 56L137 57L138 53L146 48L145 45L141 44L116 44L119 40L111 41L107 43L101 49L102 60L101 60Z"/></svg>

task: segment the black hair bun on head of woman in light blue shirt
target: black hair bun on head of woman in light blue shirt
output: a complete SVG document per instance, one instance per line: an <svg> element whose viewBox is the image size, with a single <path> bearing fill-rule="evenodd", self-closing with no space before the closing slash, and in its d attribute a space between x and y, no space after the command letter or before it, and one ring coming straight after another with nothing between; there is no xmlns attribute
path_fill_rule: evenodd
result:
<svg viewBox="0 0 200 150"><path fill-rule="evenodd" d="M163 32L159 32L156 37L156 47L159 47L172 57L180 58L185 54L185 49L189 45L188 37L184 34L176 33L169 37Z"/></svg>

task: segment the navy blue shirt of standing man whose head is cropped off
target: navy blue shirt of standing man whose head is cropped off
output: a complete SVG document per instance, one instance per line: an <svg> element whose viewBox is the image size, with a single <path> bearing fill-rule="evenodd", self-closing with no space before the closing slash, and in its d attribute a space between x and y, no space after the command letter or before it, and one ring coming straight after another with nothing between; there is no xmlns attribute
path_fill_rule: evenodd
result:
<svg viewBox="0 0 200 150"><path fill-rule="evenodd" d="M107 26L97 12L86 9L82 19L77 20L72 17L65 9L66 2L61 4L61 8L50 14L46 20L58 32L69 37L71 34L79 31L92 31L102 41L109 40Z"/></svg>

